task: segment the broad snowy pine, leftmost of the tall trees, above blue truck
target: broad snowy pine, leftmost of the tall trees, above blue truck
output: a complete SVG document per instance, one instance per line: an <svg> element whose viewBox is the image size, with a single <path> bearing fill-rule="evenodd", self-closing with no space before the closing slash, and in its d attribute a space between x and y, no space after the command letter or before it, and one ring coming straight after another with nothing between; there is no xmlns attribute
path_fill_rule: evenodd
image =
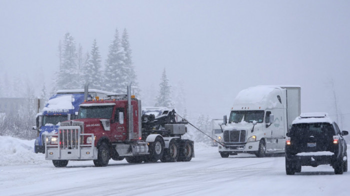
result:
<svg viewBox="0 0 350 196"><path fill-rule="evenodd" d="M62 48L62 64L55 77L55 89L79 88L76 65L76 47L74 38L69 32L65 33Z"/></svg>

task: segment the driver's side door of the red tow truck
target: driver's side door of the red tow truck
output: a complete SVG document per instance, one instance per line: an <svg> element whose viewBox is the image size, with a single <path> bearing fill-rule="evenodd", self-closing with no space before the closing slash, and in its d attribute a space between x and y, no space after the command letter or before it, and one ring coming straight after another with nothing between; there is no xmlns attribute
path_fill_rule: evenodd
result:
<svg viewBox="0 0 350 196"><path fill-rule="evenodd" d="M127 132L127 121L125 115L125 109L123 107L116 107L114 111L114 117L110 128L112 130L111 137L114 141L125 140Z"/></svg>

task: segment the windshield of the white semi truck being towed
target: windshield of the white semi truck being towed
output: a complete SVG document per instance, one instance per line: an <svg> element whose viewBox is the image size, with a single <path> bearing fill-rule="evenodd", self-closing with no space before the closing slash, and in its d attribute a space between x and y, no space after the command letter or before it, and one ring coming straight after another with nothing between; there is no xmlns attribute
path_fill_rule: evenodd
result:
<svg viewBox="0 0 350 196"><path fill-rule="evenodd" d="M253 122L253 120L255 120L258 123L261 123L263 120L263 113L263 110L231 111L228 123L238 123L242 121Z"/></svg>

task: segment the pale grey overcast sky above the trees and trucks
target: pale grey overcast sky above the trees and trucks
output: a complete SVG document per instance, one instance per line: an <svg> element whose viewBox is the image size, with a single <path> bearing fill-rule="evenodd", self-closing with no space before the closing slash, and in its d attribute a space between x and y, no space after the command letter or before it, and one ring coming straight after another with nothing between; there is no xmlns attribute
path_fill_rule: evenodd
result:
<svg viewBox="0 0 350 196"><path fill-rule="evenodd" d="M348 0L0 0L0 71L29 75L39 91L64 33L84 52L96 39L104 64L115 28L126 28L141 89L158 90L165 68L193 117L228 115L249 86L290 84L301 86L302 112L335 118L333 80L350 130L349 10Z"/></svg>

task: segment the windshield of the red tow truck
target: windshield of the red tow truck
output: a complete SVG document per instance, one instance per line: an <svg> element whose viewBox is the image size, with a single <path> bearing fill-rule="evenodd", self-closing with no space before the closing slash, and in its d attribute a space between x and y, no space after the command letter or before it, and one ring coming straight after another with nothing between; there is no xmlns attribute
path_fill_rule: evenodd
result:
<svg viewBox="0 0 350 196"><path fill-rule="evenodd" d="M80 106L78 118L107 118L112 116L113 105Z"/></svg>

